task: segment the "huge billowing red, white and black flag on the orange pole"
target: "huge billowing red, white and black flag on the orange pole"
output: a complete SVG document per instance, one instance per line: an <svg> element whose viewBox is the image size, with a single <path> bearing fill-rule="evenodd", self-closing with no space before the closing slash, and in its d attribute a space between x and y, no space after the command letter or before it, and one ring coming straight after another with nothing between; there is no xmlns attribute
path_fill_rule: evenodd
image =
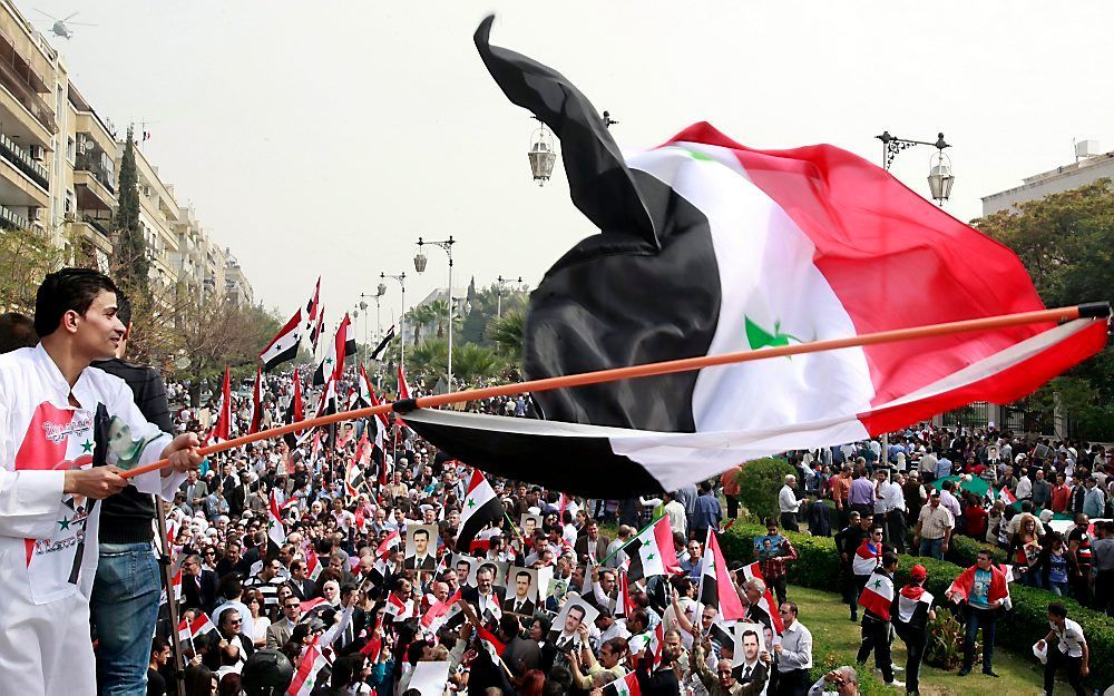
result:
<svg viewBox="0 0 1114 696"><path fill-rule="evenodd" d="M1013 252L839 148L752 149L696 124L624 159L568 79L489 46L490 27L483 62L560 137L573 202L603 231L531 294L528 379L1043 308ZM534 392L547 421L407 423L486 471L625 498L1008 403L1105 341L1105 317L1033 324Z"/></svg>

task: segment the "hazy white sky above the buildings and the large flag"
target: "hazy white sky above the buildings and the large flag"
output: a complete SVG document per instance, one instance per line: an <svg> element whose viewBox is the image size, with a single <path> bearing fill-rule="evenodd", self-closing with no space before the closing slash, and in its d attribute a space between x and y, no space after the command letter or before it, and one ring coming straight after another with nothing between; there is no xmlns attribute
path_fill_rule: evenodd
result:
<svg viewBox="0 0 1114 696"><path fill-rule="evenodd" d="M709 120L752 147L831 143L873 161L891 134L952 144L947 209L1073 161L1072 139L1114 149L1114 3L371 2L30 0L97 27L55 40L71 78L121 128L150 122L144 151L232 247L258 298L283 314L322 274L330 323L381 271L414 276L412 303L446 283L443 253L413 273L419 235L453 235L459 285L531 286L595 231L564 173L538 188L527 112L472 46L554 66L600 109L624 148ZM47 29L49 22L37 24ZM893 174L927 195L931 148ZM458 283L455 283L458 284ZM390 283L383 327L401 307ZM374 317L372 317L374 320ZM362 323L359 330L362 332ZM374 331L374 324L371 326Z"/></svg>

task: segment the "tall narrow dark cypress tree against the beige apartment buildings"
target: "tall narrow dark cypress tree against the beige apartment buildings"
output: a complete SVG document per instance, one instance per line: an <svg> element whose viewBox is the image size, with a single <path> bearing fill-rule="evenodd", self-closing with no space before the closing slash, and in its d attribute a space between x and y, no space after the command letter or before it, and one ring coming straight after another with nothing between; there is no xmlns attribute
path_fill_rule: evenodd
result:
<svg viewBox="0 0 1114 696"><path fill-rule="evenodd" d="M150 259L143 225L139 224L139 175L130 126L120 158L118 186L111 272L120 288L135 300L149 295Z"/></svg>

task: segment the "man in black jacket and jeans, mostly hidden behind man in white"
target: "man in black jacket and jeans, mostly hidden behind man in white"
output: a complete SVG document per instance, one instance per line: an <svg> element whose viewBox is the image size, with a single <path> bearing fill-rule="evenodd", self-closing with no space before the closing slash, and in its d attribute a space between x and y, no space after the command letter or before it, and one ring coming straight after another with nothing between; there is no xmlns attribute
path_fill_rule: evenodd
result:
<svg viewBox="0 0 1114 696"><path fill-rule="evenodd" d="M127 331L116 349L116 357L91 366L127 382L144 418L163 432L173 433L162 375L153 367L124 361L131 335L131 304L119 295L117 305L117 316ZM99 447L101 433L97 435ZM101 694L143 694L160 591L158 561L150 546L155 499L129 486L101 504L100 562L89 604L99 641L97 682Z"/></svg>

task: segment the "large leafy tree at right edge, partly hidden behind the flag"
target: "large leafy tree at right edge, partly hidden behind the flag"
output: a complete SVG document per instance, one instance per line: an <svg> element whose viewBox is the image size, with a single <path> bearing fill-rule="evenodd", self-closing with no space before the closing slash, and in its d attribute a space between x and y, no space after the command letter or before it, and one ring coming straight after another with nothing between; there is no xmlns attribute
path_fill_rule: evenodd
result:
<svg viewBox="0 0 1114 696"><path fill-rule="evenodd" d="M1016 210L971 224L1017 254L1045 305L1112 298L1114 188L1110 179L1023 203ZM1057 404L1078 437L1114 439L1114 352L1110 346L1029 400L1029 408L1045 422L1052 421Z"/></svg>

